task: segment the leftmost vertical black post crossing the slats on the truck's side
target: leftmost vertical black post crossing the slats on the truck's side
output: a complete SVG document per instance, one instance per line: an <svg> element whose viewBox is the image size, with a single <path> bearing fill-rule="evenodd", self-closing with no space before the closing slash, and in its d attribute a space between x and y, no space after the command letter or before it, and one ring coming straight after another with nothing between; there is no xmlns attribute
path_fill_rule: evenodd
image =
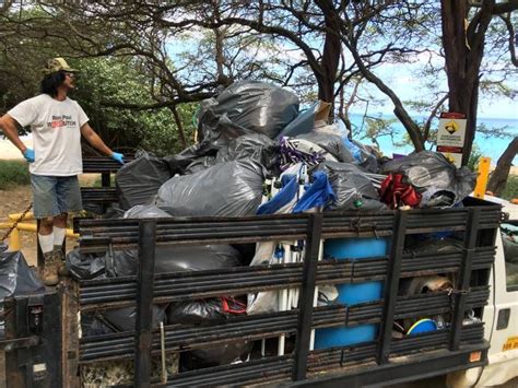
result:
<svg viewBox="0 0 518 388"><path fill-rule="evenodd" d="M134 385L150 387L153 342L153 283L156 221L139 222L139 272L137 274L137 321L134 340Z"/></svg>

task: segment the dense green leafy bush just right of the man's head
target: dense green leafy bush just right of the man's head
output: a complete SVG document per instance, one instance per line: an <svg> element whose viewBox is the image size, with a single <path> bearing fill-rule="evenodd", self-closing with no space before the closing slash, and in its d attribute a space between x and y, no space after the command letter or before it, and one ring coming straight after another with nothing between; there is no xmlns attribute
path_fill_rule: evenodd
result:
<svg viewBox="0 0 518 388"><path fill-rule="evenodd" d="M97 58L72 66L81 70L73 97L109 146L122 151L143 149L157 155L174 154L183 149L169 108L138 110L117 107L156 103L151 98L152 78L139 69L139 63L120 58ZM188 137L193 131L190 125L193 107L179 107L178 110L187 124Z"/></svg>

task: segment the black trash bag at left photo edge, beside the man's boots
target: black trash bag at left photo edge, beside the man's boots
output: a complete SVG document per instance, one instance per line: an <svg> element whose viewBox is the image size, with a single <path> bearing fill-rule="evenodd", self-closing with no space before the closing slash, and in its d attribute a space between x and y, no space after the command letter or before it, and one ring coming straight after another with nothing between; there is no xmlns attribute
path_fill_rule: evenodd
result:
<svg viewBox="0 0 518 388"><path fill-rule="evenodd" d="M27 295L45 291L45 286L31 270L21 251L8 251L0 244L0 301L13 295Z"/></svg>

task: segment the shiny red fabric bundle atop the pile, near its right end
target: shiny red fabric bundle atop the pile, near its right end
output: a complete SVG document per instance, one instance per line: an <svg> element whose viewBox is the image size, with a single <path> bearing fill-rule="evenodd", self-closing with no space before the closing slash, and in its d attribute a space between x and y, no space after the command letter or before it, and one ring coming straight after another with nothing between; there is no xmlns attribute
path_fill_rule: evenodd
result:
<svg viewBox="0 0 518 388"><path fill-rule="evenodd" d="M379 196L381 202L388 204L390 209L397 209L402 205L415 208L422 196L415 191L412 185L403 183L402 174L389 174L381 183Z"/></svg>

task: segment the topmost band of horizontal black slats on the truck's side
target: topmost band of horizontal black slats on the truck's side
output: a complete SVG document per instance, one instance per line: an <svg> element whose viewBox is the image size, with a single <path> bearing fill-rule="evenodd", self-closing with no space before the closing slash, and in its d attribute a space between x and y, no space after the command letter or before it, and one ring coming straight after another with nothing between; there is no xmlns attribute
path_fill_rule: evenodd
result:
<svg viewBox="0 0 518 388"><path fill-rule="evenodd" d="M493 207L412 210L405 215L404 233L463 232L467 228L469 209L478 209L478 230L494 230L499 225L501 213ZM128 219L81 221L81 251L138 248L139 224L139 220ZM325 239L392 236L393 226L395 212L391 211L330 212L322 219L320 236ZM297 214L239 219L157 219L155 243L198 245L305 239L307 227L307 216Z"/></svg>

